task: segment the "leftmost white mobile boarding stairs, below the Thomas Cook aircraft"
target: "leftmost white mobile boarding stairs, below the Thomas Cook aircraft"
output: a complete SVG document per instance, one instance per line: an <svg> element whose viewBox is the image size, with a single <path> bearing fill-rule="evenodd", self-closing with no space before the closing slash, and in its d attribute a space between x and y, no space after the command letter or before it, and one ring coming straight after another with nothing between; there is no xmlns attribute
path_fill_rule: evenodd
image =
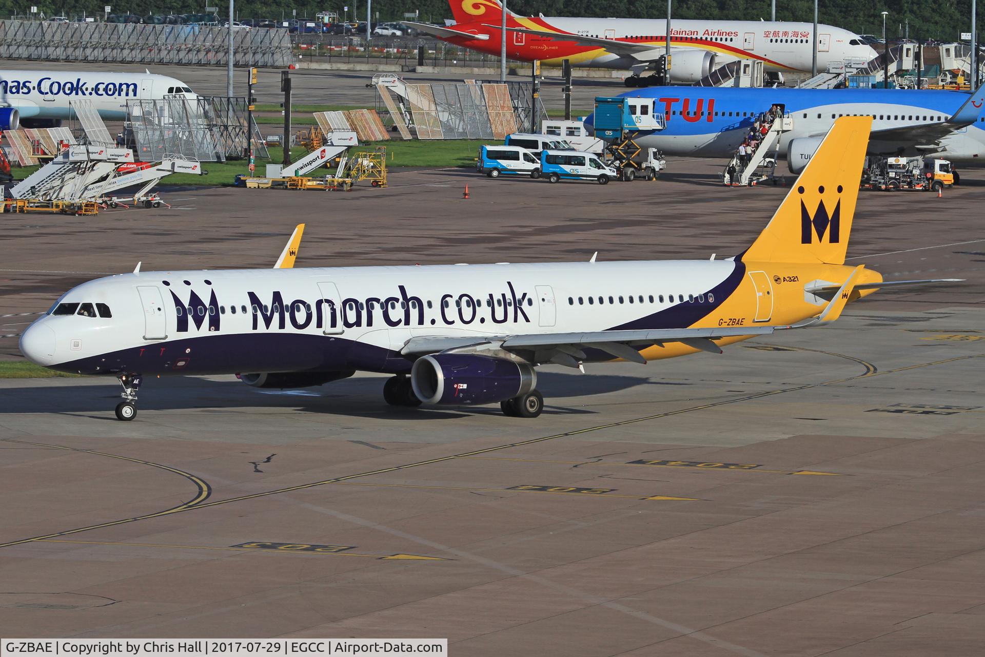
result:
<svg viewBox="0 0 985 657"><path fill-rule="evenodd" d="M130 149L69 146L48 164L10 188L15 199L79 202L94 200L87 190L111 176L120 164L132 164Z"/></svg>

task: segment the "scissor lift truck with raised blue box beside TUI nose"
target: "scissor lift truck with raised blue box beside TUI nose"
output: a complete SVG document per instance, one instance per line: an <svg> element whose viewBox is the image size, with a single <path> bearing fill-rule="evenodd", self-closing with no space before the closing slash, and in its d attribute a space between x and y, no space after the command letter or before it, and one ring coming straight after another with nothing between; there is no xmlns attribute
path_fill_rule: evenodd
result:
<svg viewBox="0 0 985 657"><path fill-rule="evenodd" d="M595 99L595 136L606 142L607 161L623 180L653 180L667 168L660 151L636 143L640 137L664 127L663 114L653 112L653 99L623 96Z"/></svg>

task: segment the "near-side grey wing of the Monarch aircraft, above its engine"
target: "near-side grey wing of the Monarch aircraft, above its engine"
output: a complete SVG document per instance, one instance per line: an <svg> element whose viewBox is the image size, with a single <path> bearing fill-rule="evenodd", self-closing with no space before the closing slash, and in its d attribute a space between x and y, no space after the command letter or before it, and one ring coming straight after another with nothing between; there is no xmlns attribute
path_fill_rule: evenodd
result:
<svg viewBox="0 0 985 657"><path fill-rule="evenodd" d="M589 348L611 354L613 358L644 363L646 361L639 355L638 348L680 342L703 352L721 354L722 350L712 342L713 340L735 336L769 335L777 328L785 327L748 326L734 328L592 331L584 333L541 333L496 336L489 338L420 336L411 338L400 353L404 355L423 356L464 348L479 348L481 350L483 346L489 346L490 348L499 348L507 352L540 352L548 361L577 367L578 360L584 359L584 354L581 350Z"/></svg>

